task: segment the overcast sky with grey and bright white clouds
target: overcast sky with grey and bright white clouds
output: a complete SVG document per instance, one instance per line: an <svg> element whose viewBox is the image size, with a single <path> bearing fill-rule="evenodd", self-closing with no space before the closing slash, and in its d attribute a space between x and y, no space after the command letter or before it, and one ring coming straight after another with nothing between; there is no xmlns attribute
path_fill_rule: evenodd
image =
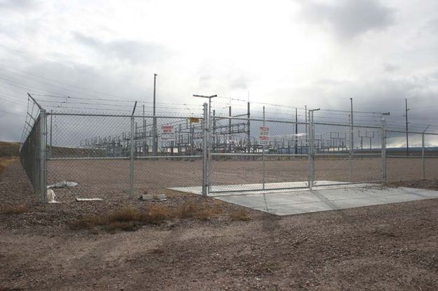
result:
<svg viewBox="0 0 438 291"><path fill-rule="evenodd" d="M0 20L3 141L20 140L27 92L150 112L153 73L159 113L200 113L193 94L219 95L219 114L249 99L291 116L351 97L402 127L408 99L411 128L438 130L435 0L0 0Z"/></svg>

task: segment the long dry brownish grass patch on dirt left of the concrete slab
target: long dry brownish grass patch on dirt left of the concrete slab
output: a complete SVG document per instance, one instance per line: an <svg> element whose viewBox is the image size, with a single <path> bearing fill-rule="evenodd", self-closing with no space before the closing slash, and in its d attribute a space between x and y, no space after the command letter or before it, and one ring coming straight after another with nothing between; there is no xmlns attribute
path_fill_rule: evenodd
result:
<svg viewBox="0 0 438 291"><path fill-rule="evenodd" d="M193 218L198 220L210 220L223 213L217 204L185 202L180 206L149 206L145 211L125 207L103 215L86 215L83 218L71 222L71 229L101 229L107 232L117 230L135 231L141 225L159 225L166 220L179 218Z"/></svg>

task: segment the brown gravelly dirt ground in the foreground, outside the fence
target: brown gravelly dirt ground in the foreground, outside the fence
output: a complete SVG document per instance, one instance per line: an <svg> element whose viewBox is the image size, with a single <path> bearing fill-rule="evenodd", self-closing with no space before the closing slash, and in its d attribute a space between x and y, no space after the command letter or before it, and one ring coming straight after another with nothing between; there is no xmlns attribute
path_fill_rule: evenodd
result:
<svg viewBox="0 0 438 291"><path fill-rule="evenodd" d="M173 170L172 170L173 171ZM438 180L399 185L438 189ZM135 232L71 229L85 214L153 202L109 187L105 201L41 205L19 162L0 176L0 290L437 290L438 201L275 217L248 211L170 220ZM153 187L153 186L151 186ZM106 194L105 194L106 193ZM70 196L69 196L70 195ZM201 202L167 192L167 206ZM162 203L162 202L155 202ZM204 203L217 204L207 198Z"/></svg>

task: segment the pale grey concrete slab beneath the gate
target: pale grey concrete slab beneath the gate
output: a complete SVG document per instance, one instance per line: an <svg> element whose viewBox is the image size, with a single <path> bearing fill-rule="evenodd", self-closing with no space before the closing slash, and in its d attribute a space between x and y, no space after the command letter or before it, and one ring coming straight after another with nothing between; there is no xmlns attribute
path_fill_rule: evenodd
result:
<svg viewBox="0 0 438 291"><path fill-rule="evenodd" d="M301 185L301 183L297 182L295 185ZM271 185L271 189L273 188L273 190L224 192L209 194L209 196L221 201L273 213L275 215L332 211L345 208L438 198L438 191L408 187L383 188L373 184L343 185L341 182L336 181L322 181L322 183L320 183L322 186L313 187L313 190L278 189L286 184L290 185L290 182L271 184L275 184ZM333 184L337 185L334 186ZM257 187L260 186L260 184L251 184L223 185L221 187L225 187L226 189L236 189L236 187L249 189L249 187L254 187L257 189ZM171 189L201 194L200 187L177 187Z"/></svg>

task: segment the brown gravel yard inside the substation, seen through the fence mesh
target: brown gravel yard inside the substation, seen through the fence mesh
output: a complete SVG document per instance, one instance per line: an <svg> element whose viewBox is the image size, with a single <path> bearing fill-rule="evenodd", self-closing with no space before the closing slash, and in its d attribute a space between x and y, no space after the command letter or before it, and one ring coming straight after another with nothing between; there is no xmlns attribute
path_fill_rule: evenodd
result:
<svg viewBox="0 0 438 291"><path fill-rule="evenodd" d="M415 180L421 178L421 159L388 158L389 181ZM48 183L70 180L79 183L69 190L70 197L91 197L96 193L111 198L111 195L129 188L128 160L57 160L48 162ZM438 159L427 159L426 178L438 176ZM137 194L144 190L152 194L162 192L166 187L200 186L202 184L202 161L190 160L136 160L134 187ZM262 162L260 160L220 160L212 162L212 185L234 185L261 183ZM381 180L381 159L356 158L353 160L353 174L349 174L348 157L327 159L318 157L315 161L315 180L348 181L366 183ZM299 182L308 180L306 159L284 160L278 157L266 158L266 183ZM303 183L302 186L306 184ZM59 192L57 190L55 192Z"/></svg>

